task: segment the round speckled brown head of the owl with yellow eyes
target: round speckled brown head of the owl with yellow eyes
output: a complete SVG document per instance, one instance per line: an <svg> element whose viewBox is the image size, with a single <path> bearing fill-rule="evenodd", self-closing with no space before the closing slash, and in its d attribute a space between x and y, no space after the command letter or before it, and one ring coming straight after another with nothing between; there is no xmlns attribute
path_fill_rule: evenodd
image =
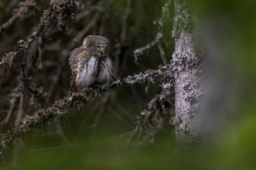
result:
<svg viewBox="0 0 256 170"><path fill-rule="evenodd" d="M88 35L84 38L82 46L92 55L99 57L108 56L110 52L110 42L103 36Z"/></svg>

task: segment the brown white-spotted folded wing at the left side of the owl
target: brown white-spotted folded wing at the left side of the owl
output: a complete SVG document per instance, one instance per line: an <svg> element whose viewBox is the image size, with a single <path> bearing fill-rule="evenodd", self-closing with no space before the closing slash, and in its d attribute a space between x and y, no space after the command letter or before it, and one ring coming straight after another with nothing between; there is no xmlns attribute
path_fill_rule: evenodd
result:
<svg viewBox="0 0 256 170"><path fill-rule="evenodd" d="M69 65L72 70L72 77L70 81L70 91L76 91L75 80L78 71L81 71L84 62L86 62L87 58L84 58L84 48L75 48L69 57Z"/></svg>

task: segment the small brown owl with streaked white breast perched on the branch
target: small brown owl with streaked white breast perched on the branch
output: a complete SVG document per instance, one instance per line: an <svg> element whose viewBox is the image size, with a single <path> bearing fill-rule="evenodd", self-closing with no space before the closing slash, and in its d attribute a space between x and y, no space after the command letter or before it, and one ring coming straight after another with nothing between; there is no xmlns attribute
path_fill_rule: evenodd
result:
<svg viewBox="0 0 256 170"><path fill-rule="evenodd" d="M105 37L89 35L84 38L82 46L70 53L70 90L79 91L94 83L113 81L113 62L109 52L110 42Z"/></svg>

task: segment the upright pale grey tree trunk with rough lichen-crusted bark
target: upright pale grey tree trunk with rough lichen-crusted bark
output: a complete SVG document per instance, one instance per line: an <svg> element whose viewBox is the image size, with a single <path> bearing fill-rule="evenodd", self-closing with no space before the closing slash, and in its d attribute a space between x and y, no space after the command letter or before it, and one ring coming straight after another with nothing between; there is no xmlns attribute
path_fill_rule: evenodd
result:
<svg viewBox="0 0 256 170"><path fill-rule="evenodd" d="M175 1L172 36L175 52L172 66L175 89L175 129L178 143L199 142L201 123L198 109L204 93L202 53L195 51L191 15L182 0Z"/></svg>

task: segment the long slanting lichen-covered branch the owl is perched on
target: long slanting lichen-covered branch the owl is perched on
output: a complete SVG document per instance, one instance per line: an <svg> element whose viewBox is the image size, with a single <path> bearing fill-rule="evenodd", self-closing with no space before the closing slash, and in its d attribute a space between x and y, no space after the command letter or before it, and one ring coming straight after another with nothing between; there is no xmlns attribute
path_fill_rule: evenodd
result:
<svg viewBox="0 0 256 170"><path fill-rule="evenodd" d="M33 128L39 128L46 123L55 123L59 118L68 115L69 109L79 106L82 103L94 100L98 95L116 90L120 87L135 83L152 84L154 82L165 82L172 75L170 65L159 66L157 70L146 70L134 76L118 79L112 83L95 85L85 91L68 94L65 98L56 101L51 107L38 110L31 116L26 116L20 120L17 127L0 135L0 152L7 149L11 143L26 134Z"/></svg>

